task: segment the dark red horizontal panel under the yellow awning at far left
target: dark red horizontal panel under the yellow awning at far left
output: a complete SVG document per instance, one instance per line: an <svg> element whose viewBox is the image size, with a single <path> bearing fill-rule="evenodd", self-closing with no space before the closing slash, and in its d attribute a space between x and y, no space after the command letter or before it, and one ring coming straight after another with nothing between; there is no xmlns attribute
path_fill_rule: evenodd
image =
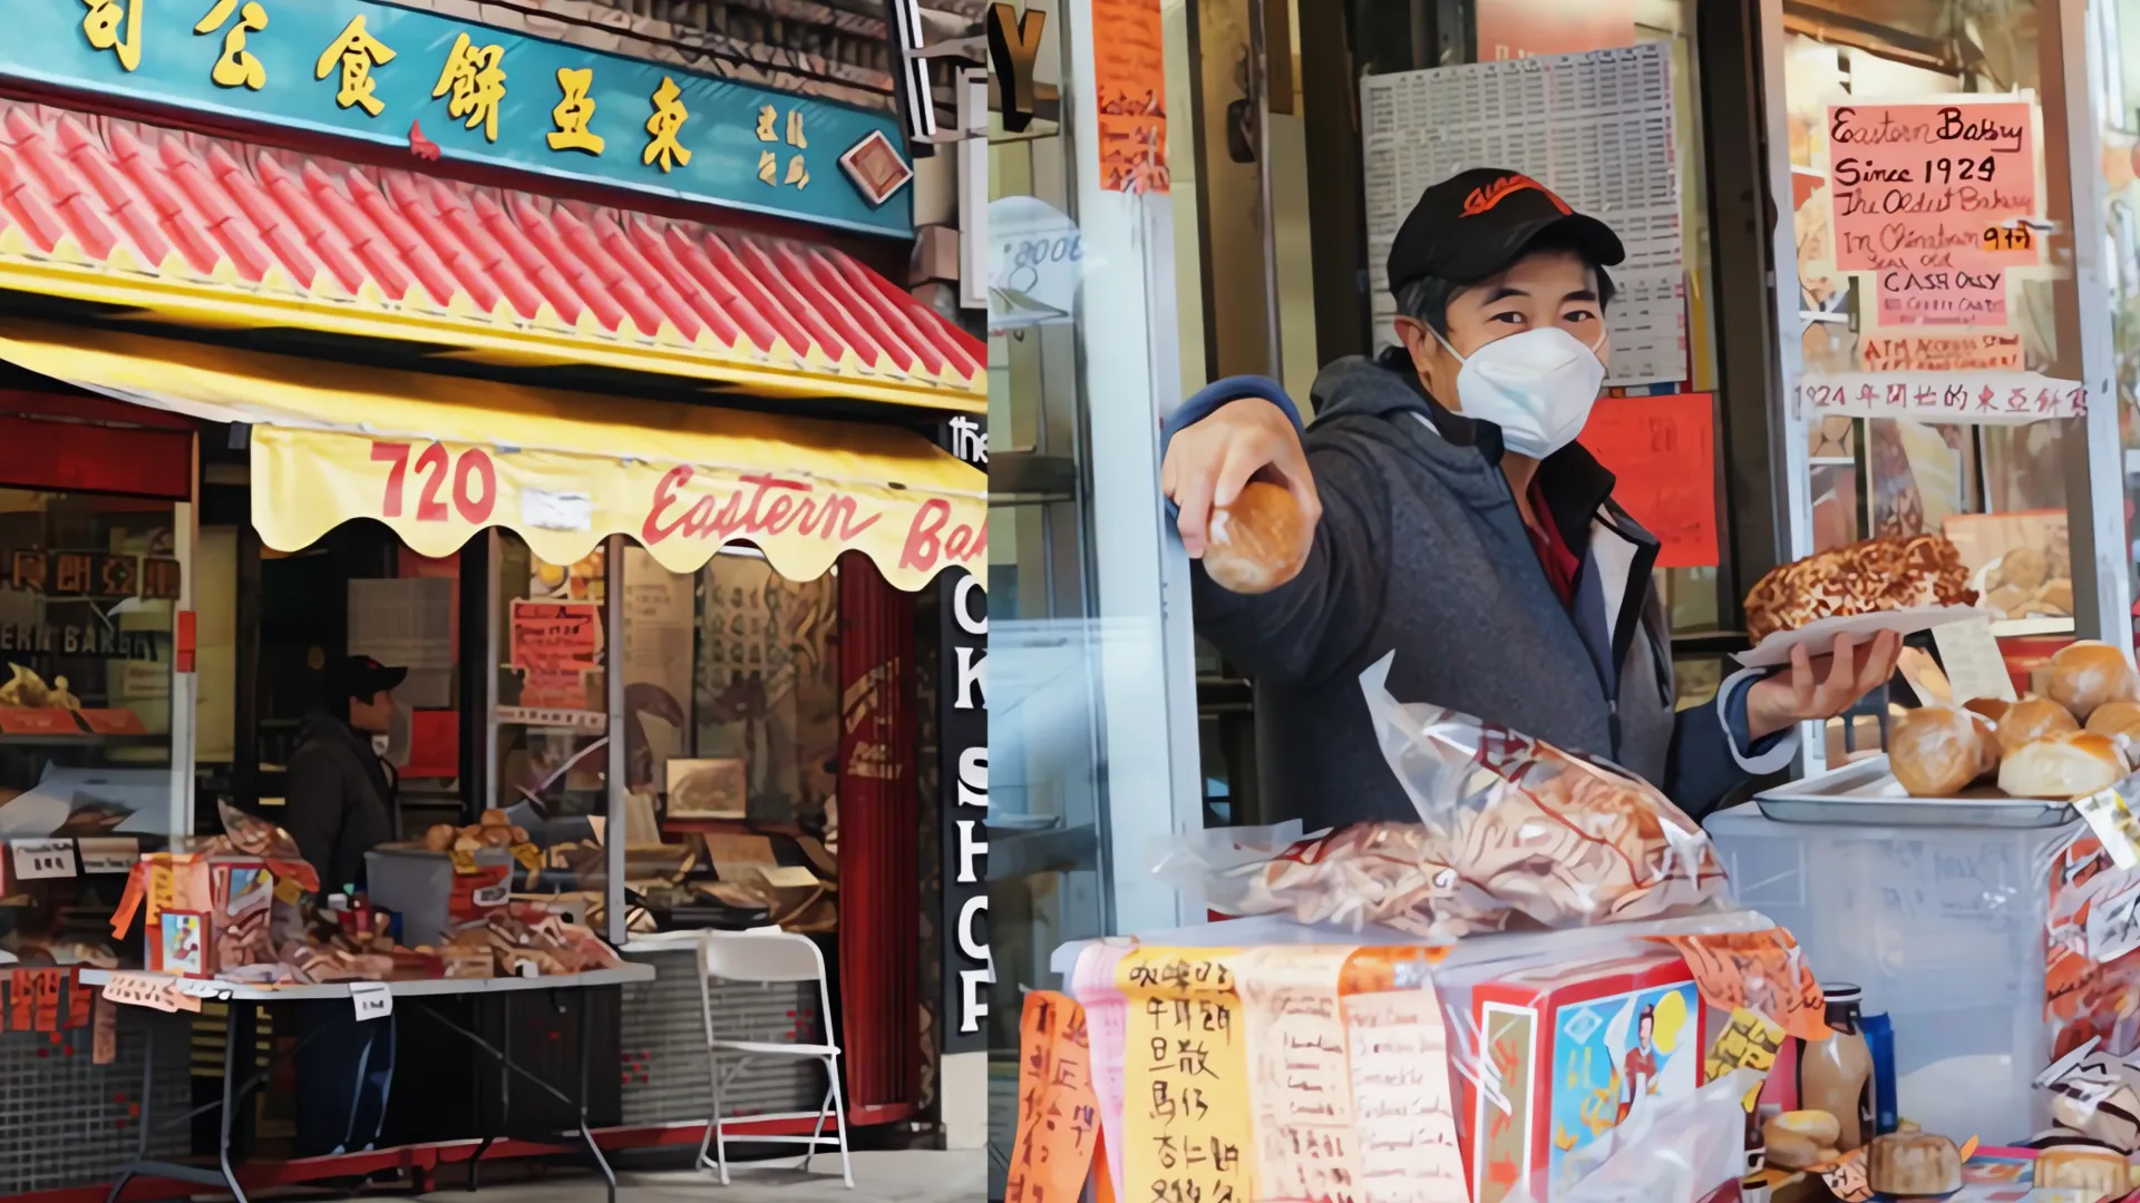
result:
<svg viewBox="0 0 2140 1203"><path fill-rule="evenodd" d="M193 499L190 432L0 415L0 486Z"/></svg>

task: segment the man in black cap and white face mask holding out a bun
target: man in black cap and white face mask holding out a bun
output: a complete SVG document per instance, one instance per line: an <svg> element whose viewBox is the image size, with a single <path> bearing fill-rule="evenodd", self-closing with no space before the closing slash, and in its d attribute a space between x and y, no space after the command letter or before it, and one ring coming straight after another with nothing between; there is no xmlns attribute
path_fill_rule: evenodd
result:
<svg viewBox="0 0 2140 1203"><path fill-rule="evenodd" d="M1605 381L1603 223L1537 180L1464 171L1427 188L1389 248L1402 349L1314 383L1314 424L1273 381L1235 377L1166 422L1162 484L1190 557L1250 479L1305 514L1299 572L1256 595L1194 569L1196 629L1256 679L1278 734L1263 788L1314 824L1417 811L1376 747L1359 672L1603 756L1701 816L1783 768L1795 724L1838 715L1894 672L1900 638L1800 649L1673 711L1671 644L1650 580L1656 539L1611 501L1575 437Z"/></svg>

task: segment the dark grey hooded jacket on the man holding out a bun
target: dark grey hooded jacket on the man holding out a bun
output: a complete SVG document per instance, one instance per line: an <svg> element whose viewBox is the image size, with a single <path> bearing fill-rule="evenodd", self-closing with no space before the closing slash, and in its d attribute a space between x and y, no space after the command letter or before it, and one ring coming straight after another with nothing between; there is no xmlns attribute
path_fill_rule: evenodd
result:
<svg viewBox="0 0 2140 1203"><path fill-rule="evenodd" d="M1220 381L1181 407L1168 437L1273 392L1271 381ZM1267 811L1310 826L1415 818L1359 687L1391 651L1400 702L1601 756L1693 816L1748 777L1721 706L1673 713L1671 644L1650 584L1656 539L1609 501L1611 473L1586 450L1571 443L1539 465L1554 524L1581 563L1562 606L1500 471L1496 426L1442 409L1410 370L1357 355L1323 368L1314 400L1303 445L1323 522L1308 565L1254 597L1194 569L1196 631L1256 681Z"/></svg>

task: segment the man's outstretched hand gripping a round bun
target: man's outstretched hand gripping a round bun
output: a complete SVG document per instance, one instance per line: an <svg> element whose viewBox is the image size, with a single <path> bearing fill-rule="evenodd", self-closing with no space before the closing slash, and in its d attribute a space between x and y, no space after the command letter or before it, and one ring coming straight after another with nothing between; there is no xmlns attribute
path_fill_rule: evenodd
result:
<svg viewBox="0 0 2140 1203"><path fill-rule="evenodd" d="M1222 405L1211 417L1181 428L1166 443L1160 462L1160 488L1181 509L1175 527L1190 559L1203 559L1209 546L1211 509L1233 505L1252 479L1267 479L1293 494L1301 507L1301 544L1293 563L1308 561L1323 518L1323 499L1308 473L1301 435L1282 409L1263 398L1241 398Z"/></svg>

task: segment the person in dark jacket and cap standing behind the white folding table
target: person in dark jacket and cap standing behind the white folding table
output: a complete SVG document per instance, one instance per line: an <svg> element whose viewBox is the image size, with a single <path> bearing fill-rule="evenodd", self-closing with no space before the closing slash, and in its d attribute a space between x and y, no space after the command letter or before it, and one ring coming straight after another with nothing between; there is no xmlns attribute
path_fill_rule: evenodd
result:
<svg viewBox="0 0 2140 1203"><path fill-rule="evenodd" d="M336 895L364 884L364 854L394 839L394 779L372 749L394 721L407 668L368 655L327 666L321 706L285 768L282 828ZM394 1085L394 1017L357 1023L349 1002L297 1012L297 1156L372 1147Z"/></svg>

